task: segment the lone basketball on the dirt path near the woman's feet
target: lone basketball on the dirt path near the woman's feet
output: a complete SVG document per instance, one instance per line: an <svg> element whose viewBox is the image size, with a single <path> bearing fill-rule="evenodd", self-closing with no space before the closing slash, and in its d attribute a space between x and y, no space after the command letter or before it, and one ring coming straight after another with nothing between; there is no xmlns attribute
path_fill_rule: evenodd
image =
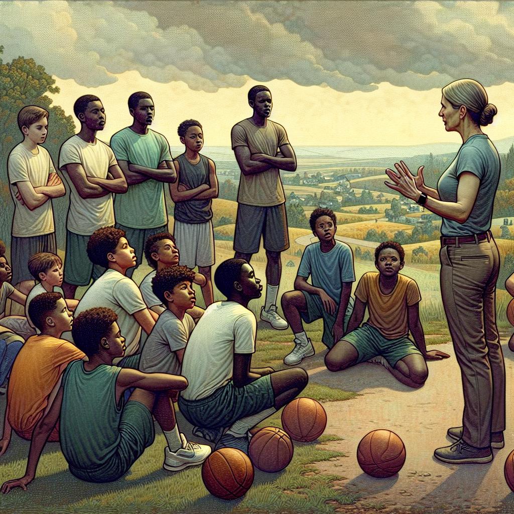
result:
<svg viewBox="0 0 514 514"><path fill-rule="evenodd" d="M357 448L357 461L364 473L378 479L396 474L405 463L405 446L390 430L373 430Z"/></svg>

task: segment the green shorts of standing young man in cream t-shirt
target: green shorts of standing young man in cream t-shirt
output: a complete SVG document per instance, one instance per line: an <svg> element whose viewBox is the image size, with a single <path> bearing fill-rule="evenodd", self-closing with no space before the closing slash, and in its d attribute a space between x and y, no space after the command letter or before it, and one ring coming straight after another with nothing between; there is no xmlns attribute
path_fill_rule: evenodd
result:
<svg viewBox="0 0 514 514"><path fill-rule="evenodd" d="M66 229L66 254L64 256L64 282L74 286L87 286L93 277L98 279L105 268L93 264L87 256L88 235L75 234Z"/></svg>

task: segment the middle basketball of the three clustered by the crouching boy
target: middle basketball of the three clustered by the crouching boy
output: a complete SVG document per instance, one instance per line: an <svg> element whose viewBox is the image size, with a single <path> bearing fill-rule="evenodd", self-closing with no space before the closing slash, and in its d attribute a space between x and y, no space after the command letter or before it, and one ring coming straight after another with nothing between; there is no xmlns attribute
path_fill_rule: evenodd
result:
<svg viewBox="0 0 514 514"><path fill-rule="evenodd" d="M291 438L280 428L263 428L250 439L248 453L256 468L268 473L276 473L291 462L293 454Z"/></svg>

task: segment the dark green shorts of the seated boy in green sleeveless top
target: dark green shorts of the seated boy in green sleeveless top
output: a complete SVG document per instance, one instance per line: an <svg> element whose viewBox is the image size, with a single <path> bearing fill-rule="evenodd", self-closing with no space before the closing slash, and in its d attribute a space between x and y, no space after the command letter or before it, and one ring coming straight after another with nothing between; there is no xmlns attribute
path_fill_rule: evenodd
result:
<svg viewBox="0 0 514 514"><path fill-rule="evenodd" d="M96 469L75 468L69 470L80 480L86 482L113 482L123 476L143 454L155 438L154 421L151 412L139 401L127 401L119 424L120 439L118 446L105 464Z"/></svg>

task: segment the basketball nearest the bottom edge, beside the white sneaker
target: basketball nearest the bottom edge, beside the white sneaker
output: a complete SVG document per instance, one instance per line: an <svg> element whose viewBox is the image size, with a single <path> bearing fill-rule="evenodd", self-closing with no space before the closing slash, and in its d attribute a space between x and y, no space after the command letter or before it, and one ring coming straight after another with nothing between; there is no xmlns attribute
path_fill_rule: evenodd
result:
<svg viewBox="0 0 514 514"><path fill-rule="evenodd" d="M201 466L207 490L222 500L241 498L253 483L253 466L248 456L236 448L212 452Z"/></svg>

